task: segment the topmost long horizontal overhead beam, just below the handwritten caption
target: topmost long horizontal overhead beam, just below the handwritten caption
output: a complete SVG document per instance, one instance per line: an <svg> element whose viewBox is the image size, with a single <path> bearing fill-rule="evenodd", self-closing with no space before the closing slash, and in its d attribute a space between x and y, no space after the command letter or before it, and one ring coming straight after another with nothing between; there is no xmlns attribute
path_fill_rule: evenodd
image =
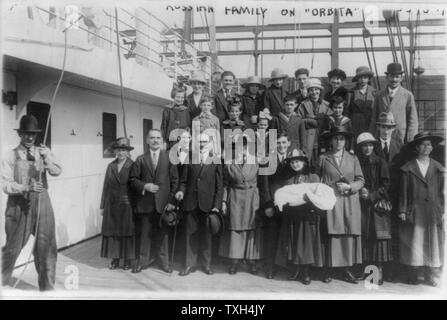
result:
<svg viewBox="0 0 447 320"><path fill-rule="evenodd" d="M410 26L411 21L400 21L401 27L408 28ZM301 23L299 24L300 30L329 30L332 23ZM420 26L433 26L433 27L439 27L439 26L445 26L445 20L444 19L426 19L420 21ZM380 28L386 28L385 21L379 21L378 26ZM357 29L357 28L363 28L363 22L362 21L349 21L349 22L343 22L339 24L340 29ZM177 28L172 29L175 32L178 32L180 34L183 34L183 29ZM168 30L166 34L173 34L172 30ZM232 25L232 26L217 26L216 27L216 33L238 33L238 32L256 32L256 31L293 31L295 30L295 24L293 23L283 23L283 24L267 24L264 25L264 27L259 28L259 26L256 27L256 25ZM208 33L208 30L206 27L195 27L192 29L192 32L194 34L200 34L200 33Z"/></svg>

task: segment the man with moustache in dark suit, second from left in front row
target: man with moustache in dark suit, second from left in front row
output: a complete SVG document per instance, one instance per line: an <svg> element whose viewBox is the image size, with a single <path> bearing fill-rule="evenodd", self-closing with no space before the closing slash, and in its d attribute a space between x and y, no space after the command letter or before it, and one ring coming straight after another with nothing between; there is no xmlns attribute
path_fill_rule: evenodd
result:
<svg viewBox="0 0 447 320"><path fill-rule="evenodd" d="M177 167L169 161L169 154L161 150L161 132L151 129L146 143L149 151L139 156L130 169L130 185L138 194L136 199L135 233L137 263L133 273L151 264L155 251L161 270L171 273L169 264L169 227L160 225L163 211L173 209L172 201L178 188ZM153 248L153 249L152 249Z"/></svg>

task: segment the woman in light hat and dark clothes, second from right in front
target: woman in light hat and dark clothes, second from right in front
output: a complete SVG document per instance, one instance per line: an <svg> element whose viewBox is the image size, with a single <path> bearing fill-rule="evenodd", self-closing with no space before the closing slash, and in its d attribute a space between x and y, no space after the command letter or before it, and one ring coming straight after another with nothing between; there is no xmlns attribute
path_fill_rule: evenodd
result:
<svg viewBox="0 0 447 320"><path fill-rule="evenodd" d="M378 212L374 205L388 200L390 173L385 160L374 153L378 141L369 132L357 138L357 154L365 177L360 189L362 206L362 245L365 265L379 268L379 285L383 284L383 266L393 260L391 245L391 212Z"/></svg>

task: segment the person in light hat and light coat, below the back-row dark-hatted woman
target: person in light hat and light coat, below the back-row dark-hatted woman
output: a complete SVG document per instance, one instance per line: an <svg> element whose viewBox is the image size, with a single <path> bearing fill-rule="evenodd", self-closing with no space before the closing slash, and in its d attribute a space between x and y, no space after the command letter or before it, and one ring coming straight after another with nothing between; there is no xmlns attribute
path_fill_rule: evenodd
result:
<svg viewBox="0 0 447 320"><path fill-rule="evenodd" d="M306 138L303 150L310 160L311 169L315 169L319 154L319 135L327 130L326 118L332 114L329 103L321 97L323 86L320 79L311 78L307 83L309 96L298 107L298 117L304 120Z"/></svg>

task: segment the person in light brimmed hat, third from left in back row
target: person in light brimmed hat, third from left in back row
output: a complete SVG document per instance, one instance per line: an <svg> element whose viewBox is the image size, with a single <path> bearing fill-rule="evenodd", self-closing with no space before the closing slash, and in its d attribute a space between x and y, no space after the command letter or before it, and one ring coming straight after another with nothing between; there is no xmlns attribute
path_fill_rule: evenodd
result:
<svg viewBox="0 0 447 320"><path fill-rule="evenodd" d="M256 128L258 114L262 111L263 97L259 90L264 91L265 86L258 76L251 76L242 85L245 89L242 95L242 119L247 128Z"/></svg>

